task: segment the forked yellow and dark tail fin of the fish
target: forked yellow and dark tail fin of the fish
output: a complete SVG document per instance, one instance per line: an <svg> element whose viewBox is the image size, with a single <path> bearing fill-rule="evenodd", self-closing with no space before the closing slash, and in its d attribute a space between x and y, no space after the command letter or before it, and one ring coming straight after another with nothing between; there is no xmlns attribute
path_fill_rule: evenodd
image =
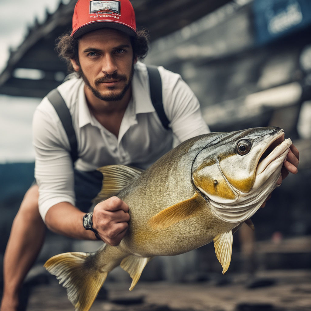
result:
<svg viewBox="0 0 311 311"><path fill-rule="evenodd" d="M63 253L50 258L44 267L67 289L67 296L76 311L88 311L108 272L91 264L90 253Z"/></svg>

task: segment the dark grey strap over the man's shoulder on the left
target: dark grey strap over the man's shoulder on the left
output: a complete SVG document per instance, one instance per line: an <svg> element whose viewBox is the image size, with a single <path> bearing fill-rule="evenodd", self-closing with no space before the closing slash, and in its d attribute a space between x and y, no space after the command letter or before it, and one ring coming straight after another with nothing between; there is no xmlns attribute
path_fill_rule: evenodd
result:
<svg viewBox="0 0 311 311"><path fill-rule="evenodd" d="M77 137L75 130L72 126L72 118L69 109L60 93L57 89L49 92L47 95L48 100L53 105L56 110L59 119L61 120L65 132L67 134L69 144L70 144L70 156L72 158L72 163L75 163L78 159L78 147L77 147Z"/></svg>

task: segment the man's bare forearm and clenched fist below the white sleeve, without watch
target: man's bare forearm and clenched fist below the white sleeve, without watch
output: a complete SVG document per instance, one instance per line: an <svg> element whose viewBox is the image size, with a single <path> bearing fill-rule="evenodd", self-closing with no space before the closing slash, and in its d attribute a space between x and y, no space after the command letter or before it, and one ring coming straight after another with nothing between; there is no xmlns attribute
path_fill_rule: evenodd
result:
<svg viewBox="0 0 311 311"><path fill-rule="evenodd" d="M48 210L45 223L55 233L75 239L96 240L94 232L83 227L84 215L71 203L60 202ZM94 207L93 228L105 243L116 246L126 234L129 219L128 205L118 197L110 197Z"/></svg>

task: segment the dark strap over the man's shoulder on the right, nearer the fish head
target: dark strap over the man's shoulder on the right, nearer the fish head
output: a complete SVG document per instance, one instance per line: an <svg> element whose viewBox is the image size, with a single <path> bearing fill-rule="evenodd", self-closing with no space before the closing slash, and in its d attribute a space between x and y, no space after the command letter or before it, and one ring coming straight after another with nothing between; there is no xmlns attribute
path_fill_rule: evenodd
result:
<svg viewBox="0 0 311 311"><path fill-rule="evenodd" d="M147 66L149 75L150 97L164 128L169 129L169 120L166 117L162 100L162 81L156 66Z"/></svg>

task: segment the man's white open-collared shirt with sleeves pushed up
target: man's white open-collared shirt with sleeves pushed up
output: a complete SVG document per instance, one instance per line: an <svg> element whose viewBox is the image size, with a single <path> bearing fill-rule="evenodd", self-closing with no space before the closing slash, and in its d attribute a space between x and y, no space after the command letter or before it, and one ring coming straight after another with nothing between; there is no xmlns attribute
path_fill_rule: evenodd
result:
<svg viewBox="0 0 311 311"><path fill-rule="evenodd" d="M119 135L104 128L88 109L84 81L73 78L58 86L72 115L79 159L76 169L91 171L103 165L130 164L146 169L178 142L208 133L199 103L178 74L159 67L162 97L170 130L163 128L152 105L146 65L134 67L132 99L123 116ZM70 145L63 125L49 100L44 97L33 118L35 178L39 185L42 218L60 202L75 205Z"/></svg>

